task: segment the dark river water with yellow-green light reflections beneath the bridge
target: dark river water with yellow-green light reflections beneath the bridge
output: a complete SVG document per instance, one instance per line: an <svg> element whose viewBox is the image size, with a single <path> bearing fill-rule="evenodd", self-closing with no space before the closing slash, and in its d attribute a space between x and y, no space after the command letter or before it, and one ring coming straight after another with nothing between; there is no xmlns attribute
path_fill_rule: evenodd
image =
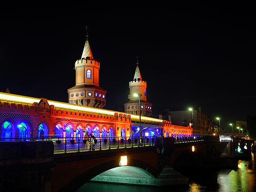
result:
<svg viewBox="0 0 256 192"><path fill-rule="evenodd" d="M76 192L167 192L167 191L256 191L256 153L249 160L238 160L238 168L200 172L201 177L189 176L189 186L142 187L103 183L86 183ZM210 175L210 176L209 176ZM207 180L208 179L208 180Z"/></svg>

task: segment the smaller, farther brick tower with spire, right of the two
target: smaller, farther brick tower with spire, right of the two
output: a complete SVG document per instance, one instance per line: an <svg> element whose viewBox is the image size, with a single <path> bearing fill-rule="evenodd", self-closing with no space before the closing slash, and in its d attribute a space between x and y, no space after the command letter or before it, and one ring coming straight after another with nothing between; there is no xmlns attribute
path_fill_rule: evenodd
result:
<svg viewBox="0 0 256 192"><path fill-rule="evenodd" d="M134 96L141 95L140 103L141 103L141 115L142 116L151 116L152 114L152 104L147 102L146 100L146 82L142 80L140 68L139 68L139 57L137 56L137 66L135 70L135 74L133 80L129 82L130 94L128 98L129 102L124 104L125 113L130 113L134 115L139 115L139 98Z"/></svg>

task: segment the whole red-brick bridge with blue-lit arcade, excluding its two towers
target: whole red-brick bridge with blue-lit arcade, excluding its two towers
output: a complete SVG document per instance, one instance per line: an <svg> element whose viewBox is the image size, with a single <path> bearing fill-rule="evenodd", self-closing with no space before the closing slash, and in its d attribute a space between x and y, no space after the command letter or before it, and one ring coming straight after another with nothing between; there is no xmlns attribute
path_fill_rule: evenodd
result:
<svg viewBox="0 0 256 192"><path fill-rule="evenodd" d="M173 165L218 156L217 137L144 116L137 137L138 123L137 115L0 93L0 190L74 191L125 165L122 157L146 173L145 185L185 184Z"/></svg>

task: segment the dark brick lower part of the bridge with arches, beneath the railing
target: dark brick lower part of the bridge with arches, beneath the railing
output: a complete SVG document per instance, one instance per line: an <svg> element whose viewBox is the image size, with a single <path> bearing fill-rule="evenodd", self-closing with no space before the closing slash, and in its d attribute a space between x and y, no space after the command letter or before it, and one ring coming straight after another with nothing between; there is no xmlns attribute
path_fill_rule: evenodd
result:
<svg viewBox="0 0 256 192"><path fill-rule="evenodd" d="M127 165L157 178L166 165L173 166L177 160L182 163L181 157L193 161L197 156L203 161L218 155L218 145L218 139L212 137L169 137L157 138L150 145L54 153L52 141L0 142L0 190L75 191L93 177L119 167L121 156L127 156Z"/></svg>

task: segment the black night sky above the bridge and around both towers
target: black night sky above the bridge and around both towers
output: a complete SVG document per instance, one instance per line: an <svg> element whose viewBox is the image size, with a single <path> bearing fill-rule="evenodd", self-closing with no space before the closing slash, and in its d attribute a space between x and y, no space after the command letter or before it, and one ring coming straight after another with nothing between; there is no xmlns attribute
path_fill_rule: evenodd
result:
<svg viewBox="0 0 256 192"><path fill-rule="evenodd" d="M87 25L106 109L123 110L139 55L153 114L202 107L214 122L220 116L224 127L255 116L252 5L187 7L3 7L0 90L68 102Z"/></svg>

